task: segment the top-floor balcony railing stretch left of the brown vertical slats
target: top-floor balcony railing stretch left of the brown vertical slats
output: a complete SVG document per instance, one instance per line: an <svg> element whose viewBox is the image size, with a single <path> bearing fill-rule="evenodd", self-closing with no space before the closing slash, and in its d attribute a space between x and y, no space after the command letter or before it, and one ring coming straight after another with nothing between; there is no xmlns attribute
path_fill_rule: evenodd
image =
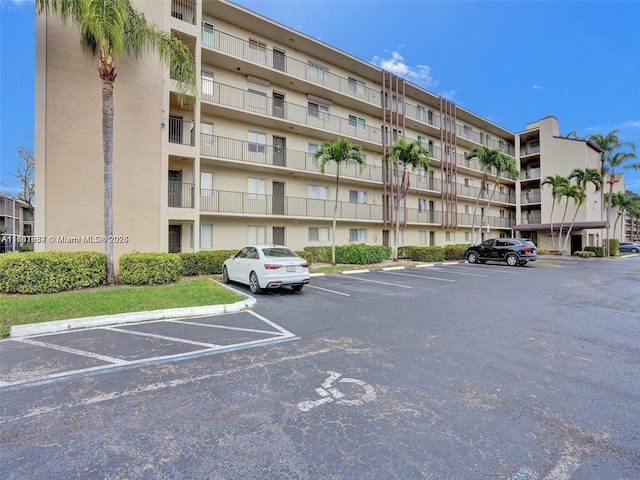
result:
<svg viewBox="0 0 640 480"><path fill-rule="evenodd" d="M380 90L372 89L354 79L344 78L308 62L289 57L280 50L270 50L256 42L249 42L219 30L203 26L202 45L225 55L239 58L273 70L287 73L307 82L357 98L377 107L381 106Z"/></svg>

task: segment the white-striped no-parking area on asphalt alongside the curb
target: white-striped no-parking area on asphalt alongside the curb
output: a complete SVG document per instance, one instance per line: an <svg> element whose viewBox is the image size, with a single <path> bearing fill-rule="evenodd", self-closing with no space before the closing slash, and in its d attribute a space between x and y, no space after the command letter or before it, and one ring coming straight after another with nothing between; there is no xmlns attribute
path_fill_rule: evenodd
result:
<svg viewBox="0 0 640 480"><path fill-rule="evenodd" d="M257 313L160 320L0 342L0 388L295 339Z"/></svg>

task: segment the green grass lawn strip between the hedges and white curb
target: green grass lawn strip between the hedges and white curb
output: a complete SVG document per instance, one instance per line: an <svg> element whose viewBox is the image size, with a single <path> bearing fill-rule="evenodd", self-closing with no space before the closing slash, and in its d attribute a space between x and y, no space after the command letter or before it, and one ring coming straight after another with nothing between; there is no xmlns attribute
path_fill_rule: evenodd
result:
<svg viewBox="0 0 640 480"><path fill-rule="evenodd" d="M166 308L235 303L245 297L211 281L189 278L170 285L99 287L38 295L0 294L0 337L11 325Z"/></svg>

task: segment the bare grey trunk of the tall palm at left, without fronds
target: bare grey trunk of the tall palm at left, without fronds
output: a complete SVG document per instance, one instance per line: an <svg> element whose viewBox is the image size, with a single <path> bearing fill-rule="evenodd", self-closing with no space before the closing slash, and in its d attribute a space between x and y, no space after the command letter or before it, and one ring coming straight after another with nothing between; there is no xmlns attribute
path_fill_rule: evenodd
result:
<svg viewBox="0 0 640 480"><path fill-rule="evenodd" d="M102 82L102 151L104 156L104 253L107 284L115 285L113 256L113 82Z"/></svg>

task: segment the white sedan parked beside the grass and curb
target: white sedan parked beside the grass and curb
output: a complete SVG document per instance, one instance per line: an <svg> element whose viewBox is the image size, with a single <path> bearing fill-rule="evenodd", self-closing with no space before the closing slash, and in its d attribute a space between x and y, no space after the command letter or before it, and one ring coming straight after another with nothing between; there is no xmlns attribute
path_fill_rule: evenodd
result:
<svg viewBox="0 0 640 480"><path fill-rule="evenodd" d="M249 285L251 293L285 286L297 292L309 280L309 263L284 245L248 245L222 264L222 281Z"/></svg>

